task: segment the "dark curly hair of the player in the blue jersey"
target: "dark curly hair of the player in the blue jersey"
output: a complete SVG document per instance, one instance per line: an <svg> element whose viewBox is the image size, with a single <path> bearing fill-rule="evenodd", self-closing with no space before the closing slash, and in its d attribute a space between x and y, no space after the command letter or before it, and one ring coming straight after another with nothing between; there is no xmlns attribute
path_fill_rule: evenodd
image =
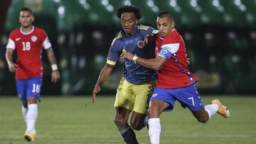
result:
<svg viewBox="0 0 256 144"><path fill-rule="evenodd" d="M142 18L142 10L136 6L125 5L117 9L117 17L121 18L122 13L134 13L137 19Z"/></svg>

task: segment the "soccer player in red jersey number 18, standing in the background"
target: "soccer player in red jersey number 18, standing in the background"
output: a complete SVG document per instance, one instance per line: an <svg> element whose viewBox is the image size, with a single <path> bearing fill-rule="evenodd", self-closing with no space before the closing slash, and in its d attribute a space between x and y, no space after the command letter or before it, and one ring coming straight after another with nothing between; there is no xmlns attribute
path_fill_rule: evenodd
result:
<svg viewBox="0 0 256 144"><path fill-rule="evenodd" d="M22 102L23 118L26 122L24 138L33 142L36 140L36 118L38 117L37 101L41 96L43 65L41 62L42 47L46 50L50 62L52 82L60 79L55 55L45 31L33 26L31 9L23 8L19 13L21 28L11 31L6 45L6 61L10 72L16 73L16 88L18 98ZM17 53L16 64L13 60L14 51Z"/></svg>

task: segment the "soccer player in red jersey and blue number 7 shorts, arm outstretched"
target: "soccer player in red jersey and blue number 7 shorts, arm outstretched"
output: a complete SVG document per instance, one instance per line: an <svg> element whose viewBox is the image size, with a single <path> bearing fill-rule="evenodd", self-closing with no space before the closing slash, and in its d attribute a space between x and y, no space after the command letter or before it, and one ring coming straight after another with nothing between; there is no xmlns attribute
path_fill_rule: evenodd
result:
<svg viewBox="0 0 256 144"><path fill-rule="evenodd" d="M158 70L156 88L149 103L149 137L152 144L160 143L160 119L163 111L171 111L178 100L181 106L188 107L193 116L201 123L206 123L216 112L225 118L230 116L226 106L218 99L203 106L203 101L196 90L198 78L188 70L186 47L183 38L174 28L174 18L169 12L159 13L156 19L159 34L156 35L156 57L146 60L129 52L120 56L154 70Z"/></svg>

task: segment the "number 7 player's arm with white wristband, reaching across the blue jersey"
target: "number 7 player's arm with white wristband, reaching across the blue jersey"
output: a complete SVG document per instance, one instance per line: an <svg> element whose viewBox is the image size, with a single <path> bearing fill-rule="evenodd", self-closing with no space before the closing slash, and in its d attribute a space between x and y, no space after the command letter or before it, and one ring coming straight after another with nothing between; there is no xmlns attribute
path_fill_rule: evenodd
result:
<svg viewBox="0 0 256 144"><path fill-rule="evenodd" d="M154 70L160 70L166 62L166 59L164 57L156 56L156 58L154 59L144 59L142 57L134 56L130 52L123 52L120 57L121 59L126 58L127 60L133 60L134 62L138 62L144 67Z"/></svg>

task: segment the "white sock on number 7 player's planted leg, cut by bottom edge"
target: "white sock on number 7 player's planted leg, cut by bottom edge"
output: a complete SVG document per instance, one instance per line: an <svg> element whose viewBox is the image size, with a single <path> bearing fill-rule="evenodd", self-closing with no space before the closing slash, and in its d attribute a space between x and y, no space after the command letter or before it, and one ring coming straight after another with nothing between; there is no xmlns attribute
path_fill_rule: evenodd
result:
<svg viewBox="0 0 256 144"><path fill-rule="evenodd" d="M149 138L151 144L160 143L161 125L160 118L149 118Z"/></svg>

